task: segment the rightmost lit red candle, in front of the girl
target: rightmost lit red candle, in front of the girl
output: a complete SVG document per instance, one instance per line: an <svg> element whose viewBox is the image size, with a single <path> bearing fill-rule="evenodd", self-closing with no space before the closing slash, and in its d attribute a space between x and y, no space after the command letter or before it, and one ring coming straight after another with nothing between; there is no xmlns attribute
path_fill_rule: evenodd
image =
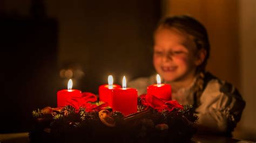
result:
<svg viewBox="0 0 256 143"><path fill-rule="evenodd" d="M147 87L147 94L154 95L163 101L170 101L172 99L171 85L161 84L161 78L157 74L157 84Z"/></svg>

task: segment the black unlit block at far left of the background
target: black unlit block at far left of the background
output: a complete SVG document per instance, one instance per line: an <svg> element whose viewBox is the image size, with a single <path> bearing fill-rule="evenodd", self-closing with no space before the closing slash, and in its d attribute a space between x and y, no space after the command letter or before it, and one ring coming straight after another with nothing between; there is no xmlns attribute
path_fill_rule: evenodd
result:
<svg viewBox="0 0 256 143"><path fill-rule="evenodd" d="M56 103L57 22L1 17L0 23L4 75L0 131L21 132L31 127L32 110Z"/></svg>

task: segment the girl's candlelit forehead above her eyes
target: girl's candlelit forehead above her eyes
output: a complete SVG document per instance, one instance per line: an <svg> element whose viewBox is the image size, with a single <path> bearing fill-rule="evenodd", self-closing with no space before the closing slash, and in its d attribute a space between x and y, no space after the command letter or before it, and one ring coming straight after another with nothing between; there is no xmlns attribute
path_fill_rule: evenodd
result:
<svg viewBox="0 0 256 143"><path fill-rule="evenodd" d="M159 27L154 33L154 45L173 47L183 45L186 48L194 48L193 37L177 28Z"/></svg>

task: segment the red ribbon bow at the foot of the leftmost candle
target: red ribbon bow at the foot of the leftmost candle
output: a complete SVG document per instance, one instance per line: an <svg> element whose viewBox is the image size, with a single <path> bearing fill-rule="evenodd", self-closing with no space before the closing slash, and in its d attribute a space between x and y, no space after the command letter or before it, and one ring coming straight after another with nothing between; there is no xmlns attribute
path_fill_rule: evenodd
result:
<svg viewBox="0 0 256 143"><path fill-rule="evenodd" d="M90 103L87 103L87 102L96 102L96 101L97 101L97 96L92 94L91 92L83 92L81 96L72 96L72 97L66 98L66 102L69 105L72 105L77 110L80 108L80 106L84 104L88 106L88 104Z"/></svg>

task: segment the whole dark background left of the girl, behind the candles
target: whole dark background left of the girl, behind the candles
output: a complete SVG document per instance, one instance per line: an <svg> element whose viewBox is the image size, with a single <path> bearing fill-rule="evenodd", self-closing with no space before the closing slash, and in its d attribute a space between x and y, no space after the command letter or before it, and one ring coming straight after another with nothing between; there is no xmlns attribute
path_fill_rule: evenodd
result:
<svg viewBox="0 0 256 143"><path fill-rule="evenodd" d="M160 18L160 1L76 5L79 12L74 3L53 9L65 20L48 16L44 1L31 1L28 16L0 11L4 76L0 133L29 131L32 110L55 107L56 93L66 89L70 77L73 88L98 94L109 74L120 84L123 75L129 81L154 73L152 33ZM4 2L0 8L4 9ZM74 23L77 16L79 23ZM77 46L66 51L61 40Z"/></svg>

